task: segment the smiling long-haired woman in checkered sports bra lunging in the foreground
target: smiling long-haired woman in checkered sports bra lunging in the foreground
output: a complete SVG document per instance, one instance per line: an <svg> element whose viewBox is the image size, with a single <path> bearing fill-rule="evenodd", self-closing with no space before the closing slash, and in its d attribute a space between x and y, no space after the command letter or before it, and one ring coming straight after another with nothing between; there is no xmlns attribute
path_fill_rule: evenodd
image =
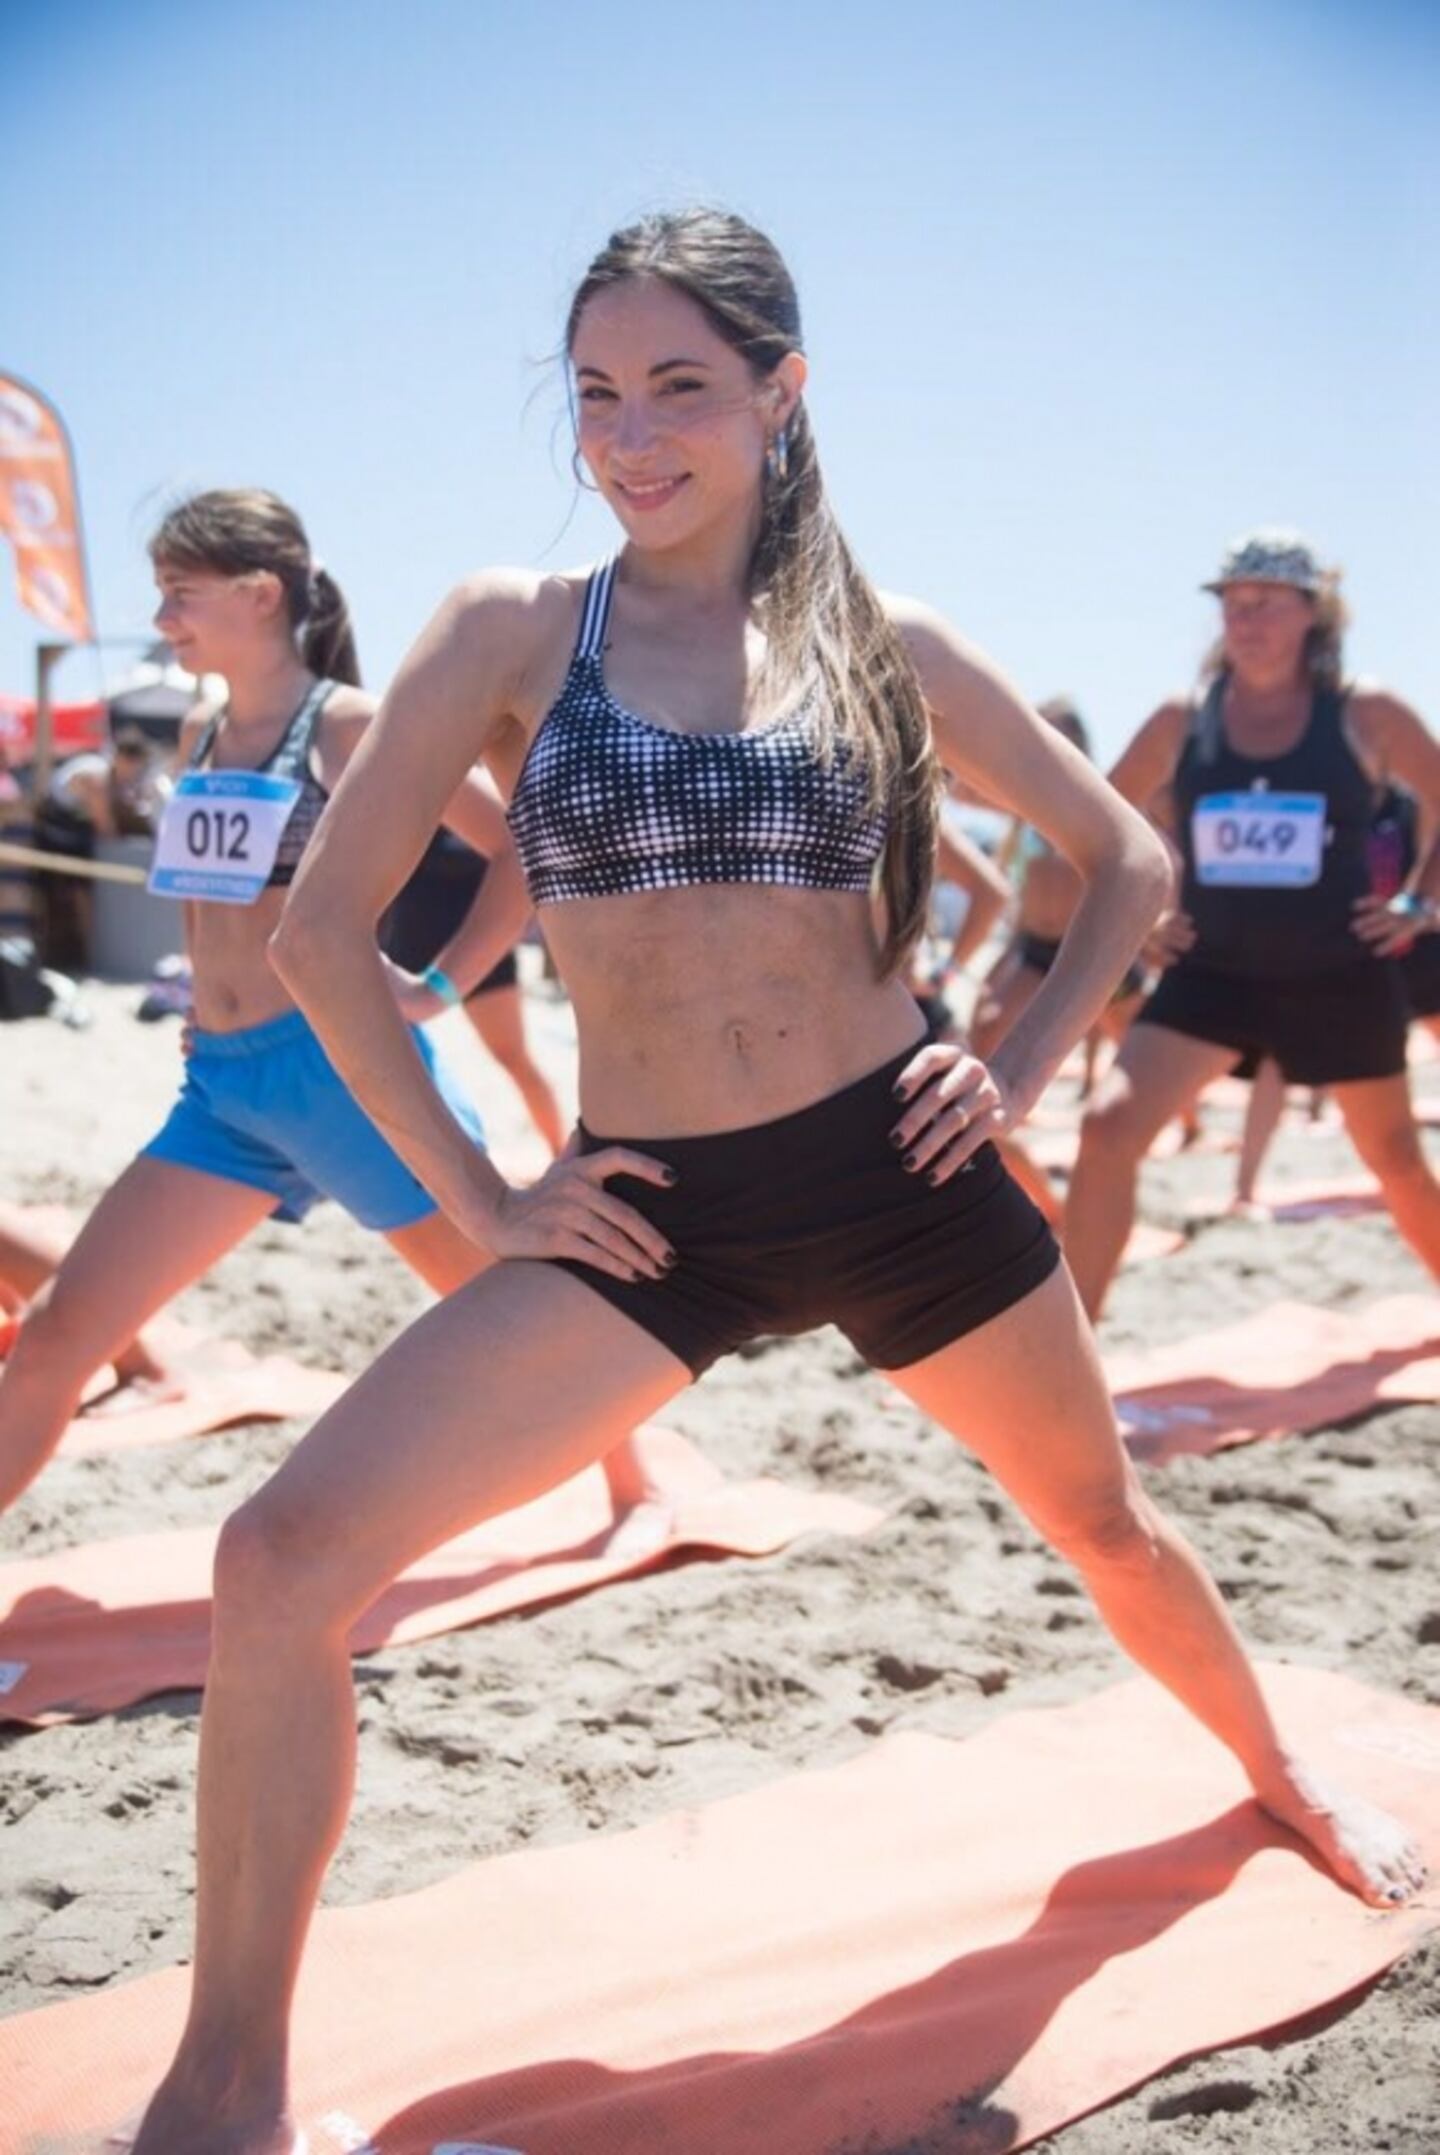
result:
<svg viewBox="0 0 1440 2155"><path fill-rule="evenodd" d="M724 211L614 235L567 353L619 562L485 573L444 601L276 942L360 1097L500 1263L412 1325L222 1532L194 2002L136 2155L207 2136L289 2155L285 2028L349 1799L354 1612L757 1332L843 1325L989 1461L1276 1817L1369 1899L1418 1879L1393 1821L1287 1756L1218 1595L1125 1461L1069 1278L992 1144L1160 909L1160 840L938 616L862 578L763 235ZM936 748L1086 884L992 1069L927 1043L903 983ZM513 787L580 1030L580 1146L530 1190L455 1140L373 948L481 752Z"/></svg>

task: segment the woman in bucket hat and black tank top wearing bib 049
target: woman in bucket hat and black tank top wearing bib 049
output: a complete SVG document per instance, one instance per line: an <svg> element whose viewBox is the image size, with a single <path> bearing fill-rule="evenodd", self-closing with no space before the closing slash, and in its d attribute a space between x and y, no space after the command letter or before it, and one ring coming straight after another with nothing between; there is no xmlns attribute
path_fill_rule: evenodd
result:
<svg viewBox="0 0 1440 2155"><path fill-rule="evenodd" d="M1440 1271L1440 1183L1410 1110L1408 1004L1390 953L1414 894L1371 899L1386 784L1440 806L1440 746L1399 696L1347 683L1339 573L1291 530L1255 530L1205 590L1222 634L1196 696L1164 703L1112 771L1171 834L1168 968L1084 1121L1065 1254L1091 1315L1134 1218L1138 1166L1211 1078L1270 1056L1330 1086L1390 1218Z"/></svg>

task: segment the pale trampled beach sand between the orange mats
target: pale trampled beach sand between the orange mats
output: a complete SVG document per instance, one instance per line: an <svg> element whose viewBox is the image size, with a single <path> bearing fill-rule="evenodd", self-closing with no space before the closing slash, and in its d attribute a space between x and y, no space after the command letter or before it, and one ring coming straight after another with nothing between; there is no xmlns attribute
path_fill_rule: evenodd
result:
<svg viewBox="0 0 1440 2155"><path fill-rule="evenodd" d="M170 1099L179 1030L136 989L88 989L93 1026L0 1028L0 1194L91 1205ZM569 1013L528 998L573 1099ZM500 1162L537 1164L507 1082L451 1015ZM1416 1073L1440 1090L1440 1067ZM1332 1129L1287 1125L1274 1179L1354 1172ZM1425 1287L1384 1218L1194 1226L1233 1162L1147 1168L1145 1215L1186 1248L1117 1284L1106 1345L1177 1338L1278 1295L1349 1306ZM179 1315L248 1347L360 1371L427 1302L334 1207L265 1226ZM733 1474L778 1474L888 1508L871 1539L765 1562L692 1565L360 1664L360 1793L330 1903L416 1888L532 1843L606 1834L681 1804L830 1765L882 1730L964 1735L1123 1670L1065 1567L987 1476L836 1334L761 1343L666 1416ZM41 1554L101 1534L216 1521L300 1435L248 1427L183 1446L60 1461L0 1521ZM1149 1472L1257 1651L1440 1702L1436 1409ZM190 1946L196 1694L86 1726L11 1735L0 1815L0 2011L73 1998ZM1321 2026L1199 2058L1039 2142L1063 2155L1186 2149L1315 2155L1440 2146L1436 1974L1414 1955ZM677 2151L681 2155L681 2151ZM776 2151L780 2155L780 2151Z"/></svg>

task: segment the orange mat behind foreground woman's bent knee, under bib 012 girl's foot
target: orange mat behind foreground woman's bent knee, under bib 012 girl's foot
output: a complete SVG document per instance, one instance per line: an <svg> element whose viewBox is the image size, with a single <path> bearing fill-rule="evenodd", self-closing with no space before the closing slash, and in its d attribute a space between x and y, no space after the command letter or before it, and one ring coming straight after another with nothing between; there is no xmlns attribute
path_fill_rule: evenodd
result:
<svg viewBox="0 0 1440 2155"><path fill-rule="evenodd" d="M664 1539L606 1554L610 1496L589 1468L420 1558L360 1618L356 1653L589 1593L681 1549L770 1556L800 1534L864 1534L882 1513L776 1480L726 1483L686 1437L638 1431ZM0 1565L0 1720L65 1722L205 1683L213 1528L95 1541Z"/></svg>

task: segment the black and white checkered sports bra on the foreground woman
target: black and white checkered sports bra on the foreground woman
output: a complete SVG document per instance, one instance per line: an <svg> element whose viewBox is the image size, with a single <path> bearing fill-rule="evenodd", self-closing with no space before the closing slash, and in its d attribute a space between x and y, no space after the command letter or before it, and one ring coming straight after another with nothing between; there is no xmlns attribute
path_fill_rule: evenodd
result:
<svg viewBox="0 0 1440 2155"><path fill-rule="evenodd" d="M535 905L692 884L869 890L884 810L843 756L815 750L808 705L746 733L679 733L606 687L614 562L584 590L565 685L509 806Z"/></svg>

